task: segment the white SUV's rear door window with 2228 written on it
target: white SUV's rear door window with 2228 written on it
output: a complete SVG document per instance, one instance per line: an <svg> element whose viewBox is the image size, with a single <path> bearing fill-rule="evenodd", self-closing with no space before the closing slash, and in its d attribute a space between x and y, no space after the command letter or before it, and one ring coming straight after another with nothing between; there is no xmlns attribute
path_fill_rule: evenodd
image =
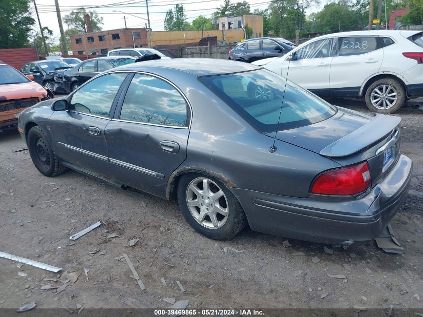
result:
<svg viewBox="0 0 423 317"><path fill-rule="evenodd" d="M361 55L379 49L376 37L348 37L338 40L339 56Z"/></svg>

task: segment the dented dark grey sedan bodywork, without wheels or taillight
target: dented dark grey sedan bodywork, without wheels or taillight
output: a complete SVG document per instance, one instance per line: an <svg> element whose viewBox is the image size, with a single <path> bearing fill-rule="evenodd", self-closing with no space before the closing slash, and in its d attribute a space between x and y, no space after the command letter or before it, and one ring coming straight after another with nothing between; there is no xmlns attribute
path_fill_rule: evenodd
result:
<svg viewBox="0 0 423 317"><path fill-rule="evenodd" d="M375 119L328 105L288 82L286 93L283 93L287 104L281 110L281 117L285 114L282 123L262 124L248 117L248 105L247 111L237 107L239 96L228 99L235 84L229 85L228 91L225 90L228 86L219 84L220 80L239 80L237 85L246 88L251 82L245 80L246 77L255 78L258 74L257 78L263 83L273 78L278 82L276 86L281 85L280 82L284 84L282 77L253 65L231 61L169 61L119 67L100 74L73 93L78 94L84 87L88 89L102 76L125 74L120 87L116 88L109 114L101 119L103 125L98 135L89 130L97 124L92 121L95 115L71 109L53 111L52 102L44 102L21 115L19 125L24 131L23 137L37 124L47 131L52 147L64 162L72 161L74 166L79 164L90 169L84 157L91 156L101 160L104 169L93 172L165 199L175 198L181 175L208 175L222 182L237 197L253 230L285 237L334 244L367 241L377 237L398 211L407 193L412 170L411 160L399 151L399 120L384 115ZM162 86L151 86L148 91L137 86L131 90L138 79L146 85L144 77ZM256 86L253 87L255 93L258 91ZM125 117L127 96L137 104L142 98L148 98L151 91L161 91L165 96L166 89L172 91L173 97L163 97L163 103L179 100L180 111L185 113L183 122L170 124L168 119L163 121L160 113L144 122ZM271 93L274 100L278 100L280 91ZM73 94L67 97L70 103ZM257 96L248 96L245 103L256 107L255 98L262 98L262 95ZM279 113L276 101L272 104L273 101L268 100L260 100L261 108L256 107L254 111L270 107L274 113ZM290 122L286 119L295 115L290 110L301 111L300 106L308 107L310 102L318 103L326 112L311 116L309 120ZM366 131L369 125L383 118L389 122L389 127L381 130L376 138L366 140L365 135L359 135L360 130ZM274 116L263 120L266 123L266 120L274 120ZM56 133L51 132L53 126L57 130L69 129L62 129L58 140ZM77 131L85 136L78 139ZM358 140L360 145L348 151L348 135L353 133L361 138ZM72 140L75 142L68 144ZM66 145L71 153L63 151ZM385 151L388 146L389 156ZM333 153L328 149L334 149ZM360 162L368 166L362 177L366 180L371 176L371 184L365 190L350 195L312 192L320 175Z"/></svg>

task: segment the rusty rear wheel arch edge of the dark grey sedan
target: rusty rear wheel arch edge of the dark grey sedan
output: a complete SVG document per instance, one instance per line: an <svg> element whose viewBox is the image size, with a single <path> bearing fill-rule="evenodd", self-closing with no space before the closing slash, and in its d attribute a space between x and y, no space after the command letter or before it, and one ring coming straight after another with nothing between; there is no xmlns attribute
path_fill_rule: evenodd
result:
<svg viewBox="0 0 423 317"><path fill-rule="evenodd" d="M175 170L169 177L167 185L166 185L166 199L168 200L176 200L177 192L178 192L178 184L182 176L189 174L189 173L201 173L206 176L214 177L217 180L221 181L226 187L237 187L229 177L223 175L222 173L217 173L214 171L207 170L202 167L182 167Z"/></svg>

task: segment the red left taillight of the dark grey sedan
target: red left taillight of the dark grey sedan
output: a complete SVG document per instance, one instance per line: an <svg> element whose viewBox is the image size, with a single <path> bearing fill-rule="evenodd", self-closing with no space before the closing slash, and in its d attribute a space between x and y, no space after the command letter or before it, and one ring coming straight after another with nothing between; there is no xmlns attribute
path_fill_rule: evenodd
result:
<svg viewBox="0 0 423 317"><path fill-rule="evenodd" d="M371 186L367 162L332 169L318 175L311 193L324 195L356 195Z"/></svg>

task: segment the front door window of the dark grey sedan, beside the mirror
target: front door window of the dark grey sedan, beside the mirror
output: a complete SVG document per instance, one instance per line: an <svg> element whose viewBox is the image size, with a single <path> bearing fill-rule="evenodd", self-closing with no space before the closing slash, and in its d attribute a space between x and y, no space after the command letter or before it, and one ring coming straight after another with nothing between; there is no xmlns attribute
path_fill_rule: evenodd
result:
<svg viewBox="0 0 423 317"><path fill-rule="evenodd" d="M110 108L126 74L101 76L76 91L69 102L69 109L101 117L108 117Z"/></svg>

